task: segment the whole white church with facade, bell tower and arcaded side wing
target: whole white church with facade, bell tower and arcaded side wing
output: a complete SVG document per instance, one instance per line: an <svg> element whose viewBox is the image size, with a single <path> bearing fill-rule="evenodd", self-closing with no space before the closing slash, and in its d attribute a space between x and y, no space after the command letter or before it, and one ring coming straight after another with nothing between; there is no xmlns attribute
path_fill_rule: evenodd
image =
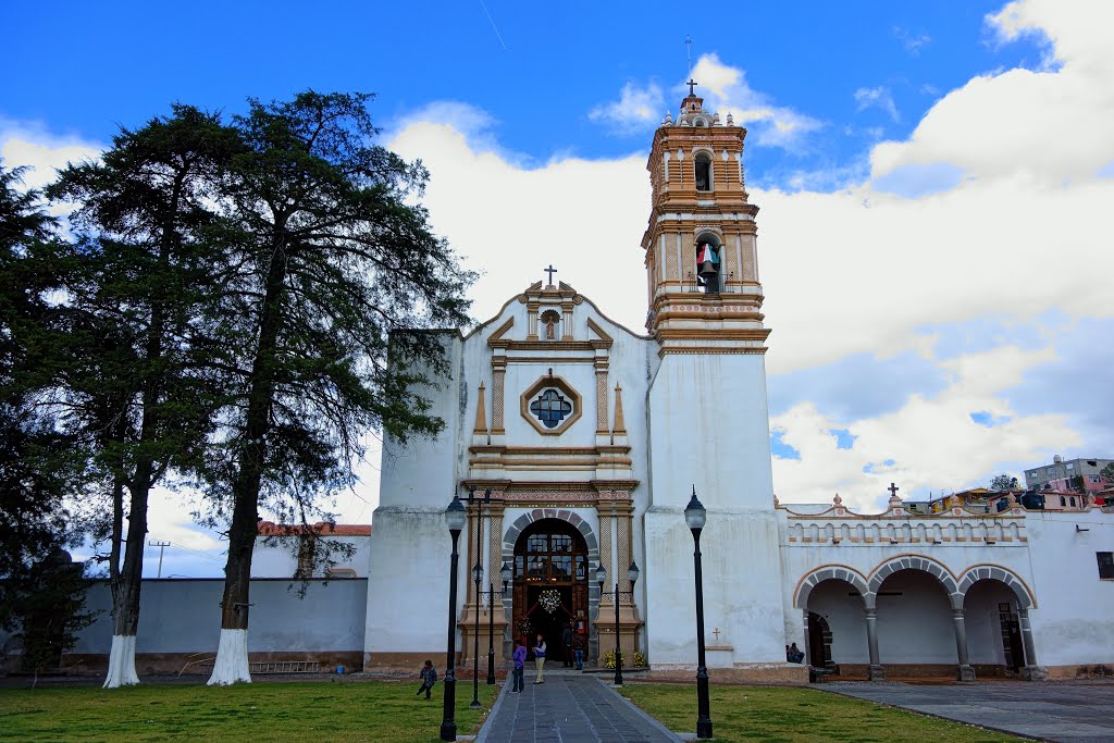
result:
<svg viewBox="0 0 1114 743"><path fill-rule="evenodd" d="M637 652L655 674L690 674L693 492L707 508L707 663L721 677L803 683L812 665L870 678L1043 678L1114 661L1104 619L1114 585L1087 567L1114 544L1101 508L1010 504L991 516L954 504L922 515L897 489L880 515L851 512L838 496L778 502L744 137L692 89L657 129L645 334L551 273L468 335L444 333L452 374L426 391L444 431L384 444L365 668L443 653L448 608L466 662L487 654L489 627L501 667L514 638L532 645L540 633L557 647L571 623L589 657L615 647L617 626L626 665ZM455 496L469 519L458 600L446 607ZM1078 558L1068 575L1052 567L1065 549ZM786 663L791 643L805 664Z"/></svg>

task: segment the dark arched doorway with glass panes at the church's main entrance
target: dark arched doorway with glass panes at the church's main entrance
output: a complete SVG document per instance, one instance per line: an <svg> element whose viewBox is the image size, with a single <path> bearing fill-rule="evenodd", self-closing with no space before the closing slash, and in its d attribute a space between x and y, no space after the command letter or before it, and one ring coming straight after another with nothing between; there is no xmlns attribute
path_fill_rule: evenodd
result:
<svg viewBox="0 0 1114 743"><path fill-rule="evenodd" d="M532 648L541 634L548 657L561 659L561 632L573 623L588 637L588 546L575 526L540 519L515 542L514 636Z"/></svg>

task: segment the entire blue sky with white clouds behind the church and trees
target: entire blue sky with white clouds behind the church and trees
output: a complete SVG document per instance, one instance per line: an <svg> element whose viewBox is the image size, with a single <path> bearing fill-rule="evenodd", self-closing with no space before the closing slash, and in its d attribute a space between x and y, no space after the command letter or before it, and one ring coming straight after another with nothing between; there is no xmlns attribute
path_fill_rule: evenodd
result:
<svg viewBox="0 0 1114 743"><path fill-rule="evenodd" d="M651 2L18 3L0 156L36 166L35 184L172 101L236 113L247 96L373 91L384 143L430 169L434 227L483 272L478 319L553 262L641 331L645 162L683 96L691 35L697 91L749 131L775 491L871 510L891 480L927 497L1114 452L1112 16L1059 0L714 17ZM340 497L346 520L370 519L377 467ZM218 553L186 510L168 502L152 538ZM164 575L218 574L188 556Z"/></svg>

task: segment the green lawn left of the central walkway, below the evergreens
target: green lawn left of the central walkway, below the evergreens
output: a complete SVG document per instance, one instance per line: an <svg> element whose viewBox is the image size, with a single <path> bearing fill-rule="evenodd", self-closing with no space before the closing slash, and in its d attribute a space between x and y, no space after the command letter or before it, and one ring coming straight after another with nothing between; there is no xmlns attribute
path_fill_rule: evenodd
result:
<svg viewBox="0 0 1114 743"><path fill-rule="evenodd" d="M438 740L444 684L417 697L414 682L300 682L0 688L0 741L392 741ZM457 684L457 732L475 733L497 686Z"/></svg>

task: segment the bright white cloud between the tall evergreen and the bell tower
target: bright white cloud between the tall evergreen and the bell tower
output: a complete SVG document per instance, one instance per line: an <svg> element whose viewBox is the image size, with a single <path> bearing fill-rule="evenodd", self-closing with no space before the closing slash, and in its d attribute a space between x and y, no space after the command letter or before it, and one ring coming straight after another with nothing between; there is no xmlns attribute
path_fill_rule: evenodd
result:
<svg viewBox="0 0 1114 743"><path fill-rule="evenodd" d="M644 153L619 160L555 157L528 169L430 123L411 124L388 146L422 158L432 176L423 203L433 227L483 273L471 292L475 316L494 315L553 263L558 280L606 297L606 313L645 332Z"/></svg>

